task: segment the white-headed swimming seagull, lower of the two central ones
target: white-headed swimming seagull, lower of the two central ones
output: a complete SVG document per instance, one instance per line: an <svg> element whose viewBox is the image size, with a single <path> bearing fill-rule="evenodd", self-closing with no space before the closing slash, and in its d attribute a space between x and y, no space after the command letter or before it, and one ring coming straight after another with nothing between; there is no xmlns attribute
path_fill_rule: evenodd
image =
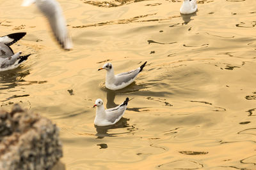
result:
<svg viewBox="0 0 256 170"><path fill-rule="evenodd" d="M107 126L115 124L123 117L128 102L129 98L127 97L124 103L120 104L119 106L105 110L102 99L97 99L95 101L95 104L93 105L93 108L97 106L94 124L97 126Z"/></svg>

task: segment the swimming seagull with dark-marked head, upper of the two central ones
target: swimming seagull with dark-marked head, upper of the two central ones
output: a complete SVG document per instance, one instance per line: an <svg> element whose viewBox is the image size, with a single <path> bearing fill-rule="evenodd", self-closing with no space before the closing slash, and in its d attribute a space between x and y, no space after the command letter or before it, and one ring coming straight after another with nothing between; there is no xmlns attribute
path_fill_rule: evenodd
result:
<svg viewBox="0 0 256 170"><path fill-rule="evenodd" d="M128 85L130 85L135 78L138 76L138 74L143 70L143 67L145 67L147 61L144 62L138 69L134 69L132 71L128 71L125 73L120 73L120 74L114 74L114 69L113 66L110 62L104 64L101 69L106 69L107 74L106 74L106 87L110 90L120 90Z"/></svg>

